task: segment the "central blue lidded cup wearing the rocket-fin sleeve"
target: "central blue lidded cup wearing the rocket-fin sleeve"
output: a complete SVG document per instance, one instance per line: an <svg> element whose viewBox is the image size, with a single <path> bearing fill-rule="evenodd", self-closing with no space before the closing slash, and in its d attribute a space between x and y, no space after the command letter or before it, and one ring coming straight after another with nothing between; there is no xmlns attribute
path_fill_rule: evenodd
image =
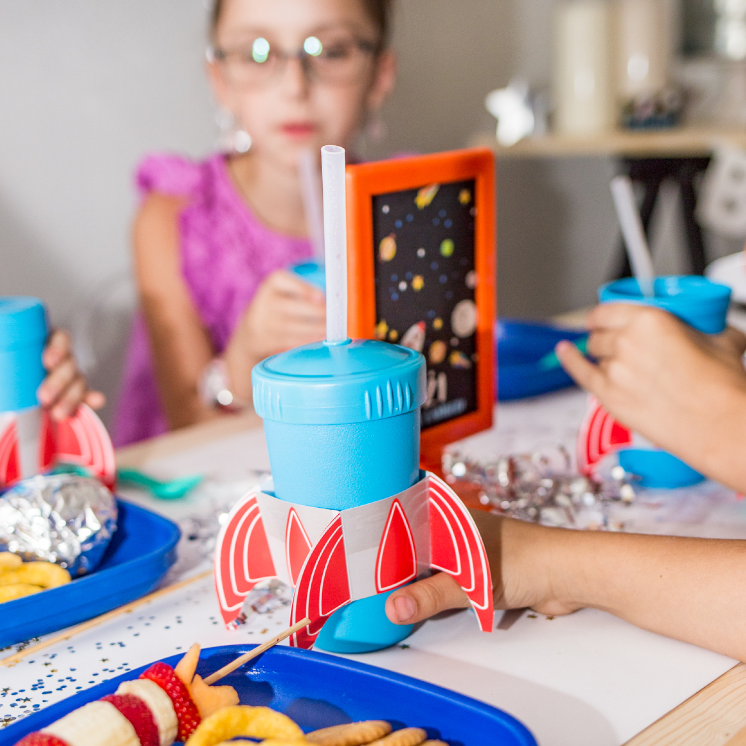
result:
<svg viewBox="0 0 746 746"><path fill-rule="evenodd" d="M263 360L251 382L281 500L345 510L419 480L419 408L427 398L419 352L374 339L314 342ZM366 653L401 642L412 625L386 618L389 593L342 606L316 645Z"/></svg>

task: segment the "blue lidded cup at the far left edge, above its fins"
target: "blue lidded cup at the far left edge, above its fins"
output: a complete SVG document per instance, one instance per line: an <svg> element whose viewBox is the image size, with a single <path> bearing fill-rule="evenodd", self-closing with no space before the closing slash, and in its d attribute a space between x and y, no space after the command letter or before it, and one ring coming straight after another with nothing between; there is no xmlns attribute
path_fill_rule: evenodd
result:
<svg viewBox="0 0 746 746"><path fill-rule="evenodd" d="M0 298L0 412L39 404L47 332L46 310L39 298Z"/></svg>

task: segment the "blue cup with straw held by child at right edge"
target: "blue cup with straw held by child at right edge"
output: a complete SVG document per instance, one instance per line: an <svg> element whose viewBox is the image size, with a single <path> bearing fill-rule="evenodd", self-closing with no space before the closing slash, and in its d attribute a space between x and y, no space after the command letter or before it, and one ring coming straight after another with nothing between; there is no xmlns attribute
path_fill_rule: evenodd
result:
<svg viewBox="0 0 746 746"><path fill-rule="evenodd" d="M700 275L670 275L656 278L655 297L645 298L635 278L622 278L598 289L601 303L640 303L662 308L706 334L718 334L726 325L730 288ZM625 448L619 452L625 471L640 477L645 487L673 489L704 480L682 460L665 451Z"/></svg>

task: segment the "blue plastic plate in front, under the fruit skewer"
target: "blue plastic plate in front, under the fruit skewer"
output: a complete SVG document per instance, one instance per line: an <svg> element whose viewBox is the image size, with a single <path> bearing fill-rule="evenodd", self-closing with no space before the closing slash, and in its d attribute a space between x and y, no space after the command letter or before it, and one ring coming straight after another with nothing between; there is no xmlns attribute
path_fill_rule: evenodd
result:
<svg viewBox="0 0 746 746"><path fill-rule="evenodd" d="M206 648L197 671L207 676L254 645ZM402 655L407 655L402 651ZM181 655L164 658L176 665ZM0 731L0 746L46 727L73 709L116 691L147 666L80 692ZM357 720L388 720L393 727L417 726L431 739L452 746L536 746L523 724L506 712L440 686L383 668L325 653L272 648L221 681L236 688L242 704L285 712L306 732Z"/></svg>

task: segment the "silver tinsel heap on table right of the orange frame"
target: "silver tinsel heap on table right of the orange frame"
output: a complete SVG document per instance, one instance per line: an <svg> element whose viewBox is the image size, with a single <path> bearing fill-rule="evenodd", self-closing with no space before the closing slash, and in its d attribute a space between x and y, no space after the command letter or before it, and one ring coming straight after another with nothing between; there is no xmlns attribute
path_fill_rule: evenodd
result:
<svg viewBox="0 0 746 746"><path fill-rule="evenodd" d="M624 530L618 509L636 499L633 477L624 470L593 478L577 474L562 446L483 461L447 450L442 466L457 492L459 485L476 489L480 504L493 513L546 526Z"/></svg>

